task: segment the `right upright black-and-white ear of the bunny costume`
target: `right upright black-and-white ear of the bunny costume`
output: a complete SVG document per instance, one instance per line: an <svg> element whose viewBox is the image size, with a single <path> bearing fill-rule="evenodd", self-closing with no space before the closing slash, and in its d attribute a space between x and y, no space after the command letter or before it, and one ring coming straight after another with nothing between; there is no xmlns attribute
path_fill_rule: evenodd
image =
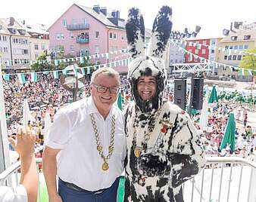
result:
<svg viewBox="0 0 256 202"><path fill-rule="evenodd" d="M172 9L169 6L163 6L158 12L157 17L155 17L148 53L149 56L163 57L173 26L171 17Z"/></svg>

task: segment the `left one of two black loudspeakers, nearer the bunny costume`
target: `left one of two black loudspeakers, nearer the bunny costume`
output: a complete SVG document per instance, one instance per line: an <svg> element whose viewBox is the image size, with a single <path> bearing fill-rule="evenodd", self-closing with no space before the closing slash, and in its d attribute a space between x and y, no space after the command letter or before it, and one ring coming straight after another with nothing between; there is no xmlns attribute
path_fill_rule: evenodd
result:
<svg viewBox="0 0 256 202"><path fill-rule="evenodd" d="M174 80L174 104L186 110L186 79Z"/></svg>

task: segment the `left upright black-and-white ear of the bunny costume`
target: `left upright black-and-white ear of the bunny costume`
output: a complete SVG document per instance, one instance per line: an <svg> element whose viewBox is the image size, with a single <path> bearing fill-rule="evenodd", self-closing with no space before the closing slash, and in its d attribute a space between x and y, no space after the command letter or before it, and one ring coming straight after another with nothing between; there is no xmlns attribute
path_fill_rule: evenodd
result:
<svg viewBox="0 0 256 202"><path fill-rule="evenodd" d="M138 8L131 8L126 22L128 51L133 58L145 55L145 26Z"/></svg>

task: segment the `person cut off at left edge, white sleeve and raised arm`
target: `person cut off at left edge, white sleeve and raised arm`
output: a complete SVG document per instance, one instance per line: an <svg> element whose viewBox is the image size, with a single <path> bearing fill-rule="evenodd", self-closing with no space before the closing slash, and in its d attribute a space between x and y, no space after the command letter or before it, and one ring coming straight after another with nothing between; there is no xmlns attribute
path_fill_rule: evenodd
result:
<svg viewBox="0 0 256 202"><path fill-rule="evenodd" d="M17 188L0 186L1 202L36 202L38 178L34 155L35 134L29 128L19 128L17 136L9 139L20 155L20 185Z"/></svg>

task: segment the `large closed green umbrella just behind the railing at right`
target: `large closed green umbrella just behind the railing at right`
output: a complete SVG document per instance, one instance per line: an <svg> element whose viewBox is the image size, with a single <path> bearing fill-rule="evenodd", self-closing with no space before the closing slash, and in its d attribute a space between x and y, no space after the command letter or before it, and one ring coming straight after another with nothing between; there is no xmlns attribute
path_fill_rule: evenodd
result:
<svg viewBox="0 0 256 202"><path fill-rule="evenodd" d="M226 148L229 145L230 150L233 152L235 150L235 130L236 130L236 121L234 113L230 112L229 120L227 121L225 133L220 144L220 150Z"/></svg>

